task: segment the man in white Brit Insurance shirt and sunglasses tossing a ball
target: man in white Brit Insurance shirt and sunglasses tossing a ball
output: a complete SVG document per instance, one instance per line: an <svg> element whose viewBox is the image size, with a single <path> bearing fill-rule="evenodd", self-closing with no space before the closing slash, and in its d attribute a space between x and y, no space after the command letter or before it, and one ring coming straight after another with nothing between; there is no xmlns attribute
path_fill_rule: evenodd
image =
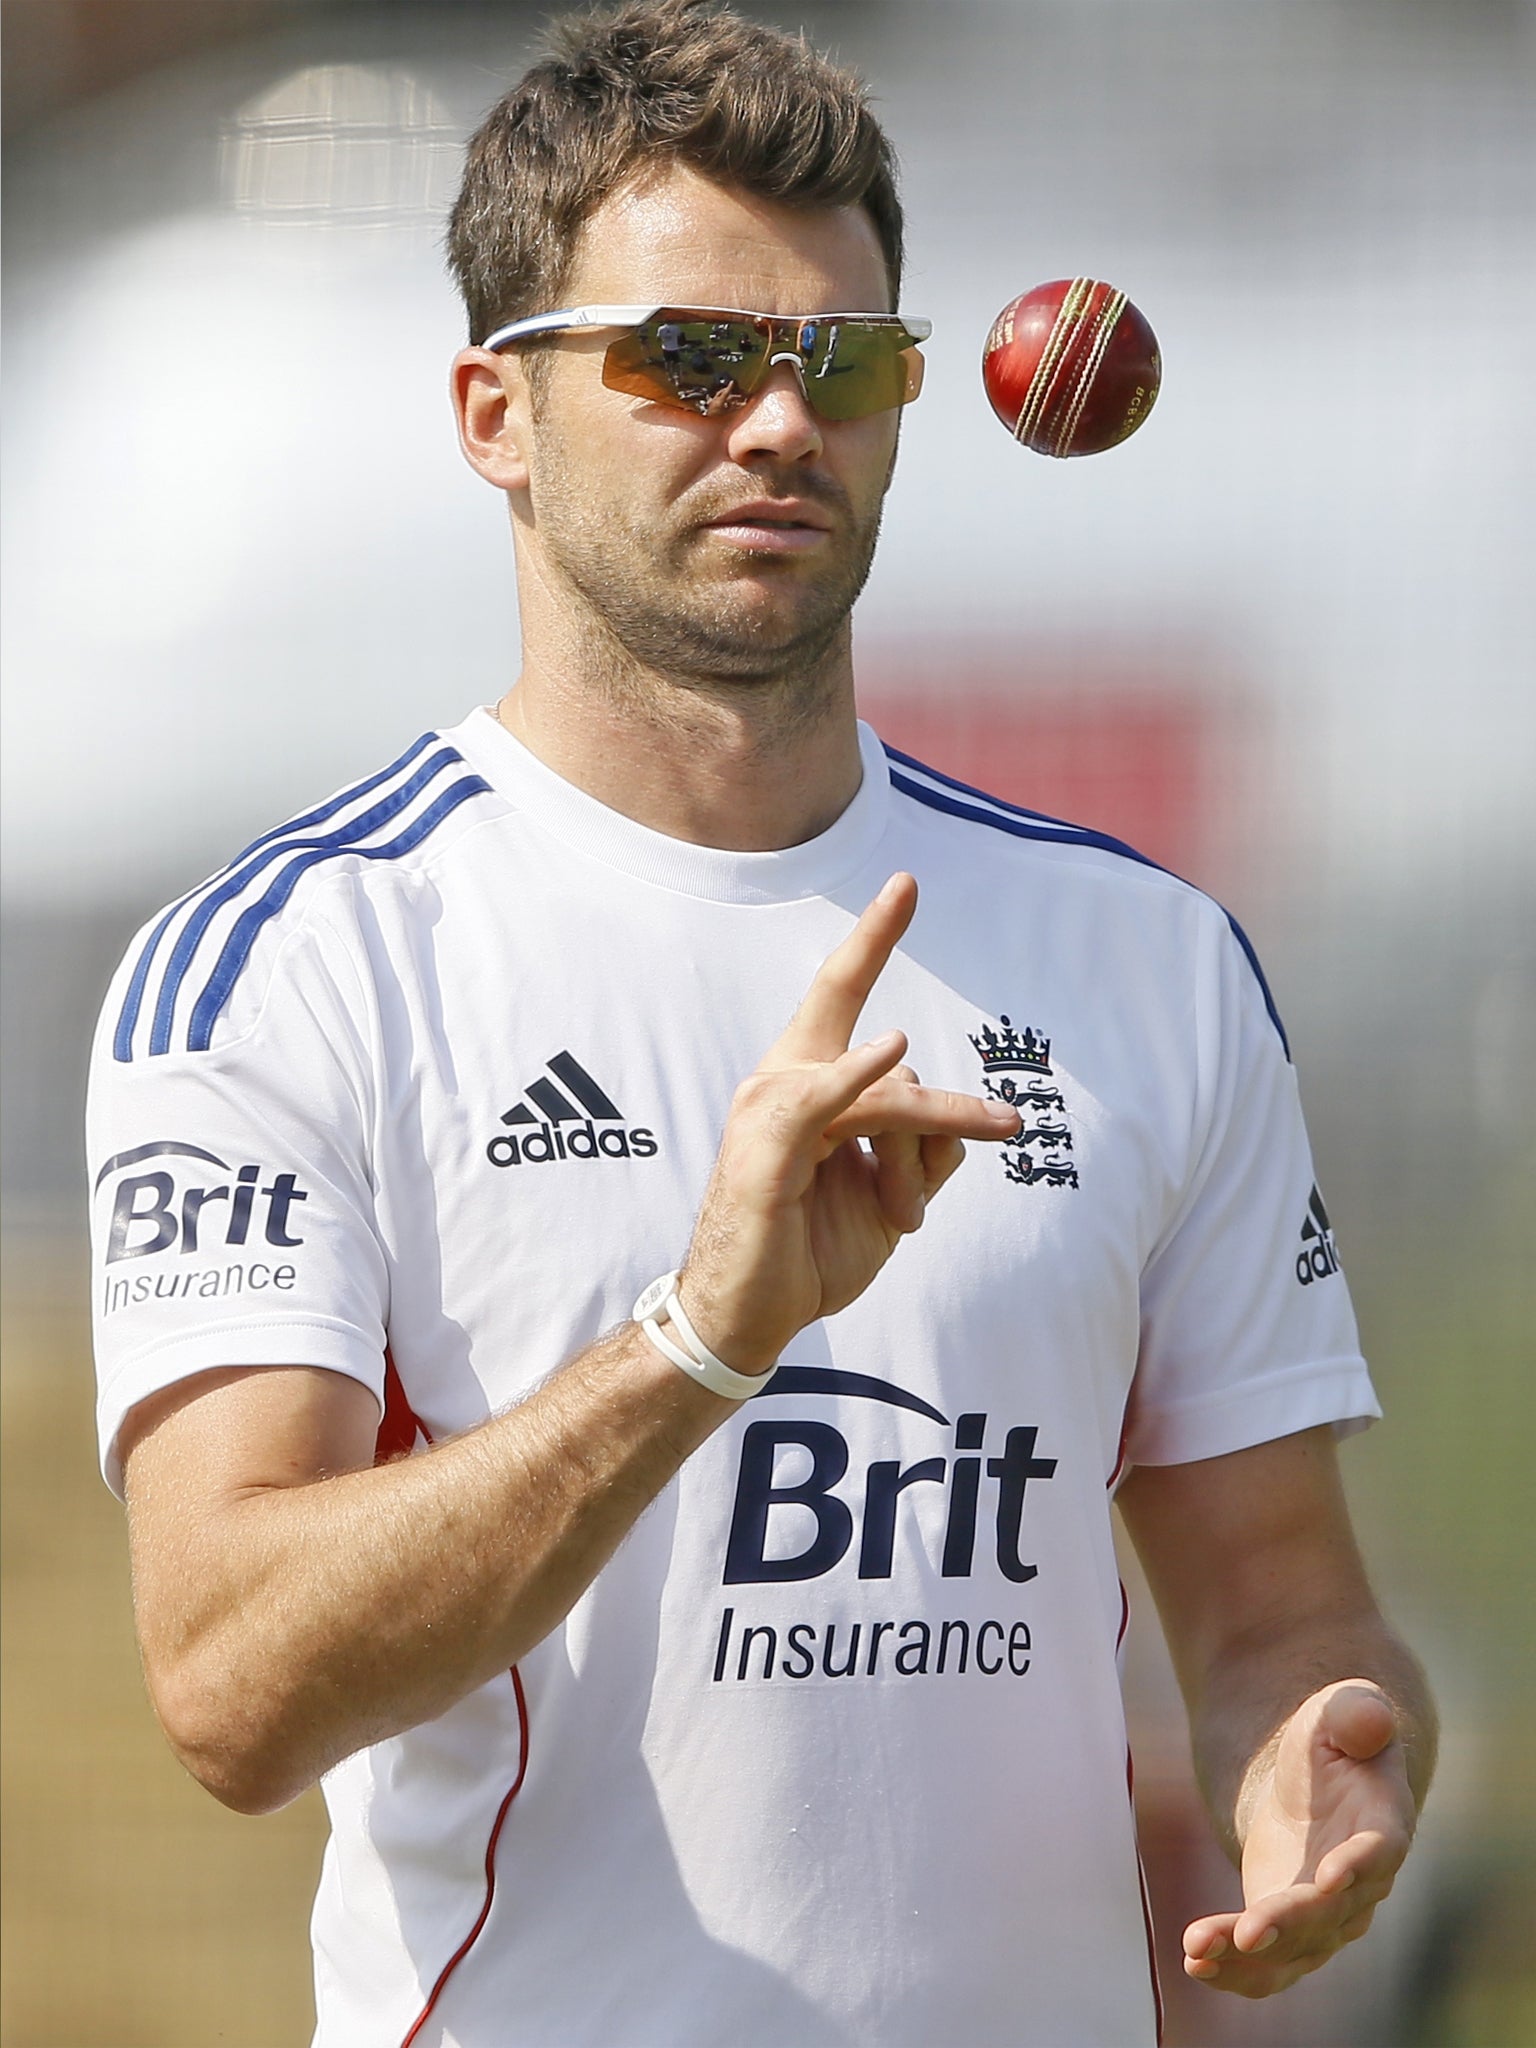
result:
<svg viewBox="0 0 1536 2048"><path fill-rule="evenodd" d="M1243 1864L1186 1966L1282 1989L1430 1772L1333 1464L1374 1397L1235 928L856 725L926 332L885 139L641 0L494 111L451 250L520 678L102 1024L166 1733L240 1810L324 1778L324 2048L1128 2048L1114 1493Z"/></svg>

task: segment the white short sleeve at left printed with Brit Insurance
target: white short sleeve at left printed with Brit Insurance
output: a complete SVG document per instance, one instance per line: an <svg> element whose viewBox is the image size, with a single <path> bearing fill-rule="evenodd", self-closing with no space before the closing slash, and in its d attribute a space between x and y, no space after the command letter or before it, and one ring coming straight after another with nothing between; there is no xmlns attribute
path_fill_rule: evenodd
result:
<svg viewBox="0 0 1536 2048"><path fill-rule="evenodd" d="M88 1104L96 1427L219 1366L324 1366L383 1399L387 1266L373 1219L362 983L324 926L274 948L207 1051L123 1053L135 942ZM127 995L131 1001L131 995Z"/></svg>

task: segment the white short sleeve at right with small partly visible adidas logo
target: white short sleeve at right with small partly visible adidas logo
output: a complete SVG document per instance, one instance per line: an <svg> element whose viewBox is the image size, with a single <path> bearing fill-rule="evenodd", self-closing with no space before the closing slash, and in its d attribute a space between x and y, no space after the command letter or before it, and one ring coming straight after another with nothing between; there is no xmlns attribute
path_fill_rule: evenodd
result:
<svg viewBox="0 0 1536 2048"><path fill-rule="evenodd" d="M1225 924L1198 993L1202 1128L1141 1286L1126 1460L1184 1464L1380 1415L1296 1073L1257 965Z"/></svg>

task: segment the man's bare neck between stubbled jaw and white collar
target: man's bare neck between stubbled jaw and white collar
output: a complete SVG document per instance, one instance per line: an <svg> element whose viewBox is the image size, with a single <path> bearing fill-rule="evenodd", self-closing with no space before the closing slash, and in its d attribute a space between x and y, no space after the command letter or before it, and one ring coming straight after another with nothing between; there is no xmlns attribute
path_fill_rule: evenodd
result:
<svg viewBox="0 0 1536 2048"><path fill-rule="evenodd" d="M496 715L555 774L668 838L774 852L825 831L858 793L852 631L793 672L662 674L612 643L524 639Z"/></svg>

